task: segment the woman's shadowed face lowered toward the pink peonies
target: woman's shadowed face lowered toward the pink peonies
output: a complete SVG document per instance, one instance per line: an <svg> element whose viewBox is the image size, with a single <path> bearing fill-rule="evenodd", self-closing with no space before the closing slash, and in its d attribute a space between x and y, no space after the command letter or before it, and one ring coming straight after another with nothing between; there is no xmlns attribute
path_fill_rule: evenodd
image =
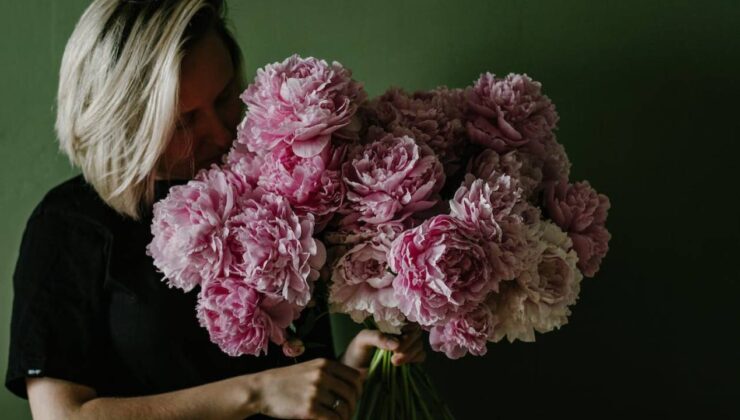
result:
<svg viewBox="0 0 740 420"><path fill-rule="evenodd" d="M220 163L241 118L239 89L226 45L209 31L183 57L178 122L157 178L190 179L199 169Z"/></svg>

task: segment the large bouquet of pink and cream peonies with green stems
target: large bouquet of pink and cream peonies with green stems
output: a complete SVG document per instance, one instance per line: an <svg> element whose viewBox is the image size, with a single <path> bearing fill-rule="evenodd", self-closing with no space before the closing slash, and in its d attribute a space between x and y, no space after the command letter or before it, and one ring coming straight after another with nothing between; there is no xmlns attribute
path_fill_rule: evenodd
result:
<svg viewBox="0 0 740 420"><path fill-rule="evenodd" d="M171 286L199 287L198 319L232 356L300 351L293 321L325 292L356 322L482 356L567 323L608 251L609 199L570 182L526 74L369 100L339 63L294 55L241 98L232 150L155 204L148 248ZM418 365L380 349L356 416L452 418Z"/></svg>

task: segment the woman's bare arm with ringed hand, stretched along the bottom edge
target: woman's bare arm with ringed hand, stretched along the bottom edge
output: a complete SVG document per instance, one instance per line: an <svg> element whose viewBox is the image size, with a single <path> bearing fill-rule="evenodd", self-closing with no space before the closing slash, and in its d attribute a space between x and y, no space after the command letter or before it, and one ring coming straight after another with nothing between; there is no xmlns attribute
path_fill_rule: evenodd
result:
<svg viewBox="0 0 740 420"><path fill-rule="evenodd" d="M97 397L93 388L53 378L27 379L34 419L349 419L363 375L337 361L314 359L282 368L143 397ZM339 404L336 404L339 402Z"/></svg>

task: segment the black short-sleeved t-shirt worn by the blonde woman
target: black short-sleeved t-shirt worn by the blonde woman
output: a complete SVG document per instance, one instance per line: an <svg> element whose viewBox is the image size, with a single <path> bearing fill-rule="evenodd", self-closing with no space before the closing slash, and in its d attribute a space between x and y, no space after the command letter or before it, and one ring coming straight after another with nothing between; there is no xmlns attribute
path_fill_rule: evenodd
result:
<svg viewBox="0 0 740 420"><path fill-rule="evenodd" d="M156 198L172 184L157 181ZM82 176L43 198L13 276L11 392L27 398L25 378L48 376L99 396L149 395L295 363L272 343L259 357L230 357L213 344L196 318L199 289L169 288L146 255L150 228L151 209L141 221L122 217ZM328 316L306 341L323 346L298 362L334 358Z"/></svg>

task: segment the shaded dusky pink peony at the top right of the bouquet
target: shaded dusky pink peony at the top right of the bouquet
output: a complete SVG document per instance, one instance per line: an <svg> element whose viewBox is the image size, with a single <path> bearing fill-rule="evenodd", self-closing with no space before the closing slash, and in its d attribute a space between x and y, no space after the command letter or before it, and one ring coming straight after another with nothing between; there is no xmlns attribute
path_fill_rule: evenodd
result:
<svg viewBox="0 0 740 420"><path fill-rule="evenodd" d="M510 73L504 79L482 74L466 91L470 139L506 153L550 135L559 117L541 86L526 74Z"/></svg>

